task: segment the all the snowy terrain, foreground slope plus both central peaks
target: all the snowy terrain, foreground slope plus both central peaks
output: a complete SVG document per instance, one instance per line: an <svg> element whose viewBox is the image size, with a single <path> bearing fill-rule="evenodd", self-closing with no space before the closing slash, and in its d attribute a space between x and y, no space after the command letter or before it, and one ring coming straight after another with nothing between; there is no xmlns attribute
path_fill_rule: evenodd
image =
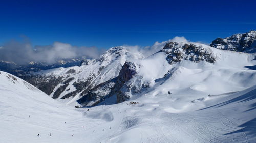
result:
<svg viewBox="0 0 256 143"><path fill-rule="evenodd" d="M148 49L22 76L48 95L0 71L0 142L256 142L256 53Z"/></svg>

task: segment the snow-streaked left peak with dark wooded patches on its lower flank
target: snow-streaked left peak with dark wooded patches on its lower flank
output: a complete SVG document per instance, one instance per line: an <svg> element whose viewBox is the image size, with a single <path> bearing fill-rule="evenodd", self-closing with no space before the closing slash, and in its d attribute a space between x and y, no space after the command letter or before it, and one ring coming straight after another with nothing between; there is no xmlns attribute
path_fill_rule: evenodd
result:
<svg viewBox="0 0 256 143"><path fill-rule="evenodd" d="M124 47L113 47L99 59L84 60L80 66L57 68L22 76L54 99L76 106L76 100L87 95L92 89L104 88L97 96L87 96L84 106L93 106L108 98L123 64L128 59L142 59L139 52L129 52ZM103 84L108 85L103 86Z"/></svg>

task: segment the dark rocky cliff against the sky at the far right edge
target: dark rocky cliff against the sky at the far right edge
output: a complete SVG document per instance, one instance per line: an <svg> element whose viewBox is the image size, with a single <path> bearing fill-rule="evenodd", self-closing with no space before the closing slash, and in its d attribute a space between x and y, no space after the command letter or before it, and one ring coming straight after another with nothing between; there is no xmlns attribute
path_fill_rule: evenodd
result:
<svg viewBox="0 0 256 143"><path fill-rule="evenodd" d="M256 31L243 34L234 34L226 38L217 38L210 44L211 47L247 53L256 52Z"/></svg>

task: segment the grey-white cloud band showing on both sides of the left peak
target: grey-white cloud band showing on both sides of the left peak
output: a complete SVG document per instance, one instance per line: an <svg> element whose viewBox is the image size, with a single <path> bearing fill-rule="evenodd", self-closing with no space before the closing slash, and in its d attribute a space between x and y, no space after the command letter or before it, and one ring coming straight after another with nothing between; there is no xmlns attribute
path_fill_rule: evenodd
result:
<svg viewBox="0 0 256 143"><path fill-rule="evenodd" d="M160 50L167 42L189 42L185 37L174 37L163 42L155 42L152 46L130 46L122 47L131 52L140 52L144 57L148 57ZM3 46L0 46L0 60L15 62L19 65L26 65L30 61L45 62L53 64L59 59L72 59L85 57L87 59L99 58L105 49L96 47L77 47L68 43L54 42L47 46L32 46L31 43L24 39L22 42L12 40Z"/></svg>

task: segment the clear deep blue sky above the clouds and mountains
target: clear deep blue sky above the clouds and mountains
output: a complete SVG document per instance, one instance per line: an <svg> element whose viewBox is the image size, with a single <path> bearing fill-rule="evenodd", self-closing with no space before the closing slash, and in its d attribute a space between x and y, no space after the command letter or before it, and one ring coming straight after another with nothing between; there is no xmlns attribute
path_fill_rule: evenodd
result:
<svg viewBox="0 0 256 143"><path fill-rule="evenodd" d="M0 45L152 45L175 36L210 43L256 29L256 1L1 1Z"/></svg>

